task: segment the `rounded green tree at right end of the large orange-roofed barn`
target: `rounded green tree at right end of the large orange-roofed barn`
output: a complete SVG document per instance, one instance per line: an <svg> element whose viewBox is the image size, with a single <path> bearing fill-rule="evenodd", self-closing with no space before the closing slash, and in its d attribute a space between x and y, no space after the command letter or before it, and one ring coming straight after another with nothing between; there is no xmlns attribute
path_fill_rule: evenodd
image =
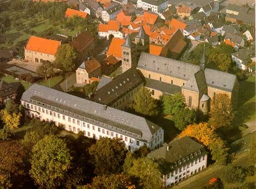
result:
<svg viewBox="0 0 256 189"><path fill-rule="evenodd" d="M53 62L57 68L63 68L67 72L75 69L77 61L77 53L71 44L62 44L58 47L55 61Z"/></svg>

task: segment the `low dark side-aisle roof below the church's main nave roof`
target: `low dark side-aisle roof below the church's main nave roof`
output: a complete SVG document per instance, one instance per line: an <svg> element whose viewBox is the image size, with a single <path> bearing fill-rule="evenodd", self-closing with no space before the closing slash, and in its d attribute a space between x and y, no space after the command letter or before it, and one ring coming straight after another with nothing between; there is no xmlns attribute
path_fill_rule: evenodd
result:
<svg viewBox="0 0 256 189"><path fill-rule="evenodd" d="M158 91L162 91L164 93L168 93L174 95L176 93L181 93L181 87L176 86L174 84L165 83L162 81L158 81L155 79L145 78L146 84L145 87L149 87L152 89L156 89Z"/></svg>

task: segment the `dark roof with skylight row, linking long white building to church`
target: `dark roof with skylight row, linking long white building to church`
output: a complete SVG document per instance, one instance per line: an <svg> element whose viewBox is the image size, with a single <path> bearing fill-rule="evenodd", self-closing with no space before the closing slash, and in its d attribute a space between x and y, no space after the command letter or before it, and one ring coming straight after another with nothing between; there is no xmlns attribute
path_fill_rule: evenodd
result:
<svg viewBox="0 0 256 189"><path fill-rule="evenodd" d="M91 100L104 105L112 105L125 93L136 88L141 83L143 83L143 79L140 74L136 69L130 68L97 90L92 95Z"/></svg>

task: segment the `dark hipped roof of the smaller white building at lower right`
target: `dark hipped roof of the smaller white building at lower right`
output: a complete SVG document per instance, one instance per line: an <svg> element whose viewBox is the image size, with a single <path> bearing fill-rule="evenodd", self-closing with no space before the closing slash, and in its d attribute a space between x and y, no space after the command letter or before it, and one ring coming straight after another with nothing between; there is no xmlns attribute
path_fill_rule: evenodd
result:
<svg viewBox="0 0 256 189"><path fill-rule="evenodd" d="M168 146L169 150L167 149ZM185 136L183 138L176 138L169 144L164 143L163 147L150 152L147 157L153 160L162 159L166 162L174 163L199 150L205 151L204 146Z"/></svg>

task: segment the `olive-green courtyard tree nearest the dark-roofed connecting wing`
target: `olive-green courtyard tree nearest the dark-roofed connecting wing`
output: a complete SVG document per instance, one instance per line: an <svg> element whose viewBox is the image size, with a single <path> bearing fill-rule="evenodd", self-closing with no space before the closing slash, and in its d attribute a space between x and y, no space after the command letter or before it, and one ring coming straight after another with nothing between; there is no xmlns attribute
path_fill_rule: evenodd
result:
<svg viewBox="0 0 256 189"><path fill-rule="evenodd" d="M145 116L156 116L159 114L157 102L151 97L149 89L141 87L134 96L133 107L136 112Z"/></svg>

